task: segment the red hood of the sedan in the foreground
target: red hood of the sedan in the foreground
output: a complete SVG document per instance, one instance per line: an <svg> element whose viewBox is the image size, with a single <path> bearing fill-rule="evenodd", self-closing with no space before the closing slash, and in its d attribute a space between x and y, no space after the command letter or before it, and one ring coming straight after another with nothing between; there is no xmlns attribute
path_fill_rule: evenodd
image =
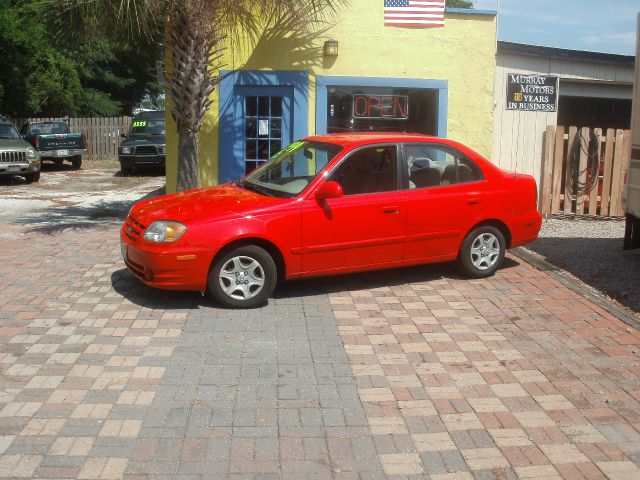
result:
<svg viewBox="0 0 640 480"><path fill-rule="evenodd" d="M287 201L226 184L143 200L134 205L131 216L145 226L156 220L215 221L254 213L257 209Z"/></svg>

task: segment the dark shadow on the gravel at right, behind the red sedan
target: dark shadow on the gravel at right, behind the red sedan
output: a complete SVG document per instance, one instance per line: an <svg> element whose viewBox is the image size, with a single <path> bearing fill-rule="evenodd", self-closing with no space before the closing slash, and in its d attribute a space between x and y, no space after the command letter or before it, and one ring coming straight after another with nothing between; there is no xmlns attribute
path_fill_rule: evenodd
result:
<svg viewBox="0 0 640 480"><path fill-rule="evenodd" d="M622 239L543 237L527 248L640 312L640 250L622 250Z"/></svg>

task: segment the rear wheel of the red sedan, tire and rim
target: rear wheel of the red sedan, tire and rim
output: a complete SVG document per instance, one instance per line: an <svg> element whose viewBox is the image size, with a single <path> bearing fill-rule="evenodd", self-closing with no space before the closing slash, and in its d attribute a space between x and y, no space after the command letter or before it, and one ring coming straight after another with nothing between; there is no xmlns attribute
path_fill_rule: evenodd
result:
<svg viewBox="0 0 640 480"><path fill-rule="evenodd" d="M478 227L464 238L458 265L470 277L490 277L502 264L505 250L506 242L500 230L488 225Z"/></svg>

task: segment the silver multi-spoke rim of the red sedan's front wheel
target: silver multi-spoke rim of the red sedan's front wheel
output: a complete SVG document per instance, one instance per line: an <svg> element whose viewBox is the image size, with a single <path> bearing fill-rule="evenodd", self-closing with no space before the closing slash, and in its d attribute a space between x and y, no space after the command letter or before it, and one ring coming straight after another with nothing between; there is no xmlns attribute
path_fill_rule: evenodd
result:
<svg viewBox="0 0 640 480"><path fill-rule="evenodd" d="M220 288L228 297L249 300L264 287L264 269L254 258L244 255L232 257L220 269L218 280Z"/></svg>

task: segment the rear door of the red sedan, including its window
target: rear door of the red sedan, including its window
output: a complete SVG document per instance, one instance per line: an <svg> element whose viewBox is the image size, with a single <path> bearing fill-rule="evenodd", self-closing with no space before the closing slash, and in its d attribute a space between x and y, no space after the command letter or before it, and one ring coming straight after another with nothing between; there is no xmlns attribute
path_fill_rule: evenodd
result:
<svg viewBox="0 0 640 480"><path fill-rule="evenodd" d="M403 153L408 177L404 258L456 255L484 208L486 182L482 171L445 145L408 144Z"/></svg>

